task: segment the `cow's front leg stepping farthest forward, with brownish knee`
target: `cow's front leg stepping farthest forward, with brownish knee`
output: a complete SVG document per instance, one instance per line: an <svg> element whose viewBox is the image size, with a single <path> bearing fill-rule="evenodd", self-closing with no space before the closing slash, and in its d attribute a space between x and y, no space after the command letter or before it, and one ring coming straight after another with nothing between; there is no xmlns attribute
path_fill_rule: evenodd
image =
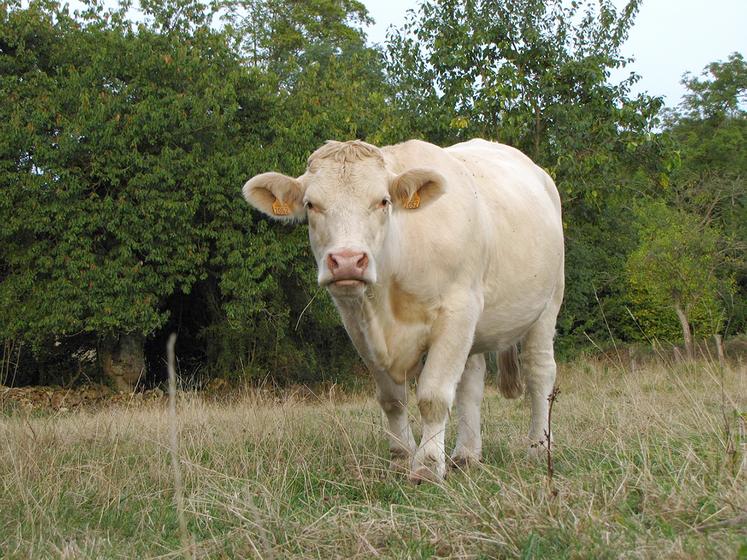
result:
<svg viewBox="0 0 747 560"><path fill-rule="evenodd" d="M439 481L446 474L446 422L472 347L478 316L477 302L464 302L454 310L442 312L434 323L428 357L418 379L423 436L412 462L410 476L414 481Z"/></svg>

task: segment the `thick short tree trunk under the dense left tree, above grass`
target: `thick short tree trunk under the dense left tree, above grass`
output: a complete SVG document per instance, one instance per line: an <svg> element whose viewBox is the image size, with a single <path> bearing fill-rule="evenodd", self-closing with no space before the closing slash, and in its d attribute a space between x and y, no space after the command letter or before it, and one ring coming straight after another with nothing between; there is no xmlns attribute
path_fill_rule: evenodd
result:
<svg viewBox="0 0 747 560"><path fill-rule="evenodd" d="M145 338L137 333L106 338L99 347L99 358L114 388L131 392L145 373Z"/></svg>

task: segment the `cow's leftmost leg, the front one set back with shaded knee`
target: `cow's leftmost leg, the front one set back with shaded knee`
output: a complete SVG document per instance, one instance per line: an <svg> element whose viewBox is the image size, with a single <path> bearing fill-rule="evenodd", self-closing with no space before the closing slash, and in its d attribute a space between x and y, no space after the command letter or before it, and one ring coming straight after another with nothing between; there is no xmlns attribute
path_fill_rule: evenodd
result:
<svg viewBox="0 0 747 560"><path fill-rule="evenodd" d="M395 383L386 372L374 374L376 399L389 421L389 452L395 468L409 466L417 449L407 417L407 383Z"/></svg>

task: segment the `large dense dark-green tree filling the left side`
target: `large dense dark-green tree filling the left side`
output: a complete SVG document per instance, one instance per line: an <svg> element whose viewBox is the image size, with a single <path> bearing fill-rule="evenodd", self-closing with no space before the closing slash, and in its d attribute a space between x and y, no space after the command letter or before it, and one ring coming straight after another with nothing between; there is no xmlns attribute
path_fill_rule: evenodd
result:
<svg viewBox="0 0 747 560"><path fill-rule="evenodd" d="M208 278L246 161L235 138L266 101L206 27L86 17L54 3L3 14L0 329L37 349L97 340L116 373L142 369L169 298Z"/></svg>

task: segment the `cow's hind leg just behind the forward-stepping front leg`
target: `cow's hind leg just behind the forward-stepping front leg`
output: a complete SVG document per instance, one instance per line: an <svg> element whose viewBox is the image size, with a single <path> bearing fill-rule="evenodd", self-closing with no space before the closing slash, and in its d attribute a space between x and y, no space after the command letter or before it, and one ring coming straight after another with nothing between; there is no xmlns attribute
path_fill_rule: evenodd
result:
<svg viewBox="0 0 747 560"><path fill-rule="evenodd" d="M457 385L456 410L459 418L457 442L451 459L457 466L469 466L482 458L480 405L485 388L485 356L475 354L467 359L462 379Z"/></svg>

